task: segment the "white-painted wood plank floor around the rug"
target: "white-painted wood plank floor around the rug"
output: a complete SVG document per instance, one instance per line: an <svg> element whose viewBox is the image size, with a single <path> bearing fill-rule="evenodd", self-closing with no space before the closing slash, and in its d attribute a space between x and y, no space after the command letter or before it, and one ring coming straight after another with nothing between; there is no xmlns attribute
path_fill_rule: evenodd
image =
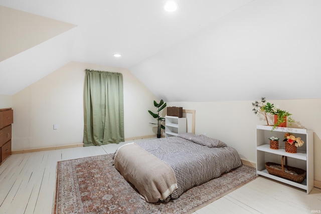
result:
<svg viewBox="0 0 321 214"><path fill-rule="evenodd" d="M113 153L122 144L11 155L0 166L0 213L52 213L57 161ZM320 212L321 189L306 194L258 177L193 214Z"/></svg>

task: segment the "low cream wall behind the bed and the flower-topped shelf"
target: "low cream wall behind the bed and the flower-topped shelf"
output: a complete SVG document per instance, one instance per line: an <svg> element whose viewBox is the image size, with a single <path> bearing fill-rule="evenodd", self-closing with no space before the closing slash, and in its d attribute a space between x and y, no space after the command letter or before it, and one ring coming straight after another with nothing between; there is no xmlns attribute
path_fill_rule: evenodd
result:
<svg viewBox="0 0 321 214"><path fill-rule="evenodd" d="M261 97L258 97L258 101ZM168 102L168 106L195 109L196 134L217 138L237 149L242 159L255 160L256 125L266 125L266 120L255 116L251 101L222 102ZM321 181L321 99L267 100L289 111L294 123L288 127L313 130L314 179ZM270 120L272 121L272 120Z"/></svg>

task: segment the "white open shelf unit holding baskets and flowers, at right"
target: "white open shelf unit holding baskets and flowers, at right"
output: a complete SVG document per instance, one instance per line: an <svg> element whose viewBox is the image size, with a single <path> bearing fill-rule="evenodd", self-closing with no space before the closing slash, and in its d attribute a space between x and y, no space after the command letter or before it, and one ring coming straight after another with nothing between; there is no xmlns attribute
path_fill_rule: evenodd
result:
<svg viewBox="0 0 321 214"><path fill-rule="evenodd" d="M269 177L271 179L296 186L306 190L308 194L313 188L313 132L311 130L276 127L273 131L272 126L256 126L256 174ZM292 133L296 137L301 137L304 141L303 146L297 147L297 153L285 152L284 134ZM269 137L278 137L279 149L270 149ZM265 162L281 164L282 155L287 156L287 165L306 170L306 178L302 183L293 182L272 174L265 168Z"/></svg>

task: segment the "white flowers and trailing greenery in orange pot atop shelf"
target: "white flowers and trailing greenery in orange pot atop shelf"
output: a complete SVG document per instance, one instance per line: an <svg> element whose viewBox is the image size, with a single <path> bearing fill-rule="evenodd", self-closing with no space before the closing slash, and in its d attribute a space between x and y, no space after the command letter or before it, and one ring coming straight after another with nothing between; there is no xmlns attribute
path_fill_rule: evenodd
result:
<svg viewBox="0 0 321 214"><path fill-rule="evenodd" d="M272 130L275 129L275 127L280 125L281 123L284 123L286 116L287 116L287 121L289 121L290 124L293 122L291 118L292 114L290 114L288 111L281 110L275 107L273 103L265 104L265 102L266 102L265 97L262 97L260 102L255 101L254 103L252 103L252 106L254 106L252 111L257 116L260 116L261 114L263 114L266 119L267 125L269 125L269 121L267 119L266 113L270 113L271 115L277 115L277 122L274 123Z"/></svg>

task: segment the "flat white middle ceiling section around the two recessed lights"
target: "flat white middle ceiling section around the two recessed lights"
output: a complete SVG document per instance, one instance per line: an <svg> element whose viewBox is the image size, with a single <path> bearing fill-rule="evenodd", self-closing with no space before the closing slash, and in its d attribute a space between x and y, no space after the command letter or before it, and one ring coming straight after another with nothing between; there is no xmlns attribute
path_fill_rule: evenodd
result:
<svg viewBox="0 0 321 214"><path fill-rule="evenodd" d="M77 26L72 60L129 68L251 0L8 0L0 5ZM115 59L114 53L121 53Z"/></svg>

